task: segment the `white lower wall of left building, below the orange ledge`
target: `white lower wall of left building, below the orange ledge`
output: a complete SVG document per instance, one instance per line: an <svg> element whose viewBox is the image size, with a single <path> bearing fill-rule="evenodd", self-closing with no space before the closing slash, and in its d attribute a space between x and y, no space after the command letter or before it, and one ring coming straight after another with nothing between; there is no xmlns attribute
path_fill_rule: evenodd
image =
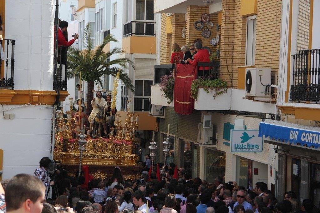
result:
<svg viewBox="0 0 320 213"><path fill-rule="evenodd" d="M18 106L3 105L4 110ZM3 179L19 173L33 174L40 159L50 157L52 111L31 105L5 111L4 114L14 114L14 119L4 119L0 113Z"/></svg>

